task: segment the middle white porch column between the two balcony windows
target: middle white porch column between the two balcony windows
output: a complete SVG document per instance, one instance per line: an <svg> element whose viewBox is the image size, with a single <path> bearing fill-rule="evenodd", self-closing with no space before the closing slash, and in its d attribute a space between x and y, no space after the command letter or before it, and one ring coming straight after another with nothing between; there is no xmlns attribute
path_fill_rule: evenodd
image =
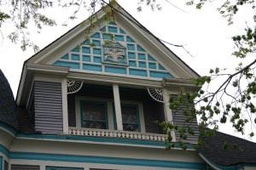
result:
<svg viewBox="0 0 256 170"><path fill-rule="evenodd" d="M121 104L120 104L120 96L119 96L119 85L113 84L113 100L114 100L114 110L115 110L115 118L116 125L118 130L123 130L123 121L121 114Z"/></svg>

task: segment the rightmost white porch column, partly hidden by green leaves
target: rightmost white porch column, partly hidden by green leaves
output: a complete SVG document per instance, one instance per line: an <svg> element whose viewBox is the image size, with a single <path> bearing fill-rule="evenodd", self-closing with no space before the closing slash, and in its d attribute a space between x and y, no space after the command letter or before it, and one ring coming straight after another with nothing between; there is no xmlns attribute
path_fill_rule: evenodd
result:
<svg viewBox="0 0 256 170"><path fill-rule="evenodd" d="M163 88L163 98L164 98L164 111L165 111L165 118L166 122L172 122L172 110L169 108L169 93L166 88ZM172 141L176 141L174 131L171 132L172 134Z"/></svg>

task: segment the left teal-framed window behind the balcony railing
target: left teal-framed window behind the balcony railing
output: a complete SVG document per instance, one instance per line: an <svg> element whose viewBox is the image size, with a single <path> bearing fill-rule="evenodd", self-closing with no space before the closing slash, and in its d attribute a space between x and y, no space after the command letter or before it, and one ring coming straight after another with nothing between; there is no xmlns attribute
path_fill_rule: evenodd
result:
<svg viewBox="0 0 256 170"><path fill-rule="evenodd" d="M107 104L81 101L82 127L108 129Z"/></svg>

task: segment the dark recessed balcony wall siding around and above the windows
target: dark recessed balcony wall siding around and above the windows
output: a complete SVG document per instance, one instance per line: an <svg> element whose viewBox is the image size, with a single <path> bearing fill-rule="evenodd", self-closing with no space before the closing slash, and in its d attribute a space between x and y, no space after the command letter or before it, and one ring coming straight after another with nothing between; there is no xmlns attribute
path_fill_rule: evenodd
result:
<svg viewBox="0 0 256 170"><path fill-rule="evenodd" d="M119 88L120 99L136 100L143 103L144 122L147 133L161 133L155 121L164 120L163 105L152 99L146 89ZM76 94L67 95L68 126L75 127L75 95L113 99L111 86L84 84Z"/></svg>

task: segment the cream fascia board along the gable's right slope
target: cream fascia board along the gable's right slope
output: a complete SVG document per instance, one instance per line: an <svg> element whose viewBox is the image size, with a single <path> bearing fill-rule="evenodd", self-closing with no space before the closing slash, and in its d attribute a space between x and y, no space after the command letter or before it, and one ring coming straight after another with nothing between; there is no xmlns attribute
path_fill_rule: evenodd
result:
<svg viewBox="0 0 256 170"><path fill-rule="evenodd" d="M136 35L133 38L137 40L137 42L141 42L144 47L150 50L154 56L157 56L160 61L162 61L162 65L166 66L166 69L173 73L174 77L182 77L182 78L190 78L190 77L198 77L198 75L189 68L188 65L185 65L182 59L178 59L176 54L174 54L169 48L163 45L160 40L153 37L152 34L149 34L147 31L143 31L140 23L136 20L132 19L129 14L126 14L124 10L121 11L125 16L118 14L119 22L129 28L128 31L131 35ZM121 20L120 20L121 19ZM131 21L132 20L132 21ZM134 24L133 22L136 22ZM131 28L132 27L132 28Z"/></svg>

